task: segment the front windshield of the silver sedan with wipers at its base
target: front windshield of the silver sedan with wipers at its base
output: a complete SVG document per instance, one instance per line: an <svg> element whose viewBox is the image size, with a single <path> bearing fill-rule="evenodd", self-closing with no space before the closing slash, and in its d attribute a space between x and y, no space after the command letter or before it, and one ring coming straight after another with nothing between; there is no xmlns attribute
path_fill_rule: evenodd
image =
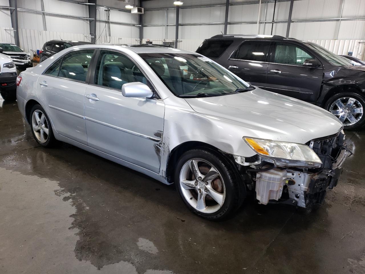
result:
<svg viewBox="0 0 365 274"><path fill-rule="evenodd" d="M253 90L222 66L199 54L139 54L178 97L220 96Z"/></svg>

